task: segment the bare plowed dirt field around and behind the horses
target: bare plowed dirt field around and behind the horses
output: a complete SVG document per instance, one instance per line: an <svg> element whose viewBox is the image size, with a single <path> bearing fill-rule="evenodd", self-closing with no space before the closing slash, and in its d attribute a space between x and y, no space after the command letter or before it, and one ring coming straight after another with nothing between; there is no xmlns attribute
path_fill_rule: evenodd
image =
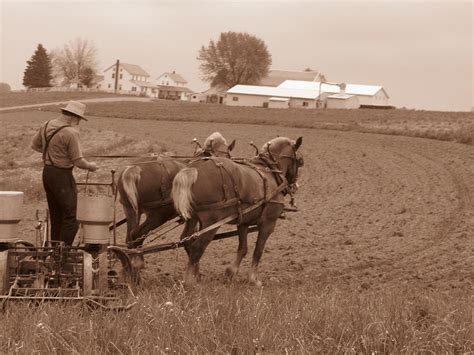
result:
<svg viewBox="0 0 474 355"><path fill-rule="evenodd" d="M33 185L22 222L25 239L34 236L34 210L45 207L38 188L40 156L28 150L28 143L35 127L52 117L53 113L38 111L0 117L4 156L0 189L16 189L21 179ZM280 220L269 238L260 268L264 283L360 290L413 284L439 291L472 291L472 145L246 124L101 117L81 124L86 152L107 154L159 149L190 154L194 137L203 141L216 130L237 139L234 155L239 157L253 155L249 141L261 146L276 135L303 136L305 167L296 195L300 211ZM99 164L105 177L125 162ZM81 173L76 176L84 178ZM35 196L41 197L39 202ZM176 238L177 234L170 234L166 241ZM236 248L236 239L211 243L201 263L203 283L222 278ZM187 261L184 250L146 258L143 277L147 282L182 278ZM244 259L239 280L244 279L249 260L250 255Z"/></svg>

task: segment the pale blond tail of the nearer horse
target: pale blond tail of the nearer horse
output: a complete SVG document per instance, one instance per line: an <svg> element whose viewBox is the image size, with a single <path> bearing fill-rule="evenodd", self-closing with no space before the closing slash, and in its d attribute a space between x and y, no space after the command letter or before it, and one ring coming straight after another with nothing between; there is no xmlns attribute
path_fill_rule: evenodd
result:
<svg viewBox="0 0 474 355"><path fill-rule="evenodd" d="M176 211L184 217L191 219L193 213L193 193L191 187L196 182L198 171L195 168L184 168L176 174L173 180L171 197Z"/></svg>

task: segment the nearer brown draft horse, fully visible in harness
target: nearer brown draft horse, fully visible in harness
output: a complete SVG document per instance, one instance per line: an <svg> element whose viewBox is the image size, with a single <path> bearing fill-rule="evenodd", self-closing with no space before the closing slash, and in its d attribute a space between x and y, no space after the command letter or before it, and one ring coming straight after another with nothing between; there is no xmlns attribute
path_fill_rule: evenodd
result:
<svg viewBox="0 0 474 355"><path fill-rule="evenodd" d="M196 283L199 260L224 220L237 224L239 235L237 257L226 270L229 278L238 272L247 253L248 228L258 226L249 282L261 285L258 264L283 211L284 196L296 186L298 168L303 165L298 152L301 143L302 137L296 141L275 138L247 162L209 158L191 163L176 175L171 195L176 210L186 219L181 235L189 257L186 286ZM198 222L202 232L194 233Z"/></svg>

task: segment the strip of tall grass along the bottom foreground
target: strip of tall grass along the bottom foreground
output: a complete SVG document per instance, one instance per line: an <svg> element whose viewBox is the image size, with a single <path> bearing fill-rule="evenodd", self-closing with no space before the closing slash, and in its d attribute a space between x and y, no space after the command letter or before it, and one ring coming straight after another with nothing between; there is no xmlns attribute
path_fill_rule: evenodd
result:
<svg viewBox="0 0 474 355"><path fill-rule="evenodd" d="M471 301L426 290L382 293L179 284L139 294L125 313L11 305L0 352L468 353Z"/></svg>

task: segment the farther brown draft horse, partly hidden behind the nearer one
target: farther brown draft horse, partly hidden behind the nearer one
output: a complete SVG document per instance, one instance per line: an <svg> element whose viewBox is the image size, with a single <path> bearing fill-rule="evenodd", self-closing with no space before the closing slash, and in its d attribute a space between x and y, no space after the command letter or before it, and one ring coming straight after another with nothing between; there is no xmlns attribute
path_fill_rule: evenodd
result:
<svg viewBox="0 0 474 355"><path fill-rule="evenodd" d="M171 187L174 177L186 163L207 156L230 157L234 146L235 140L227 144L219 132L214 132L191 159L159 156L127 166L117 182L120 203L127 219L127 244L141 246L143 236L177 216L170 196ZM143 213L146 219L139 224Z"/></svg>

